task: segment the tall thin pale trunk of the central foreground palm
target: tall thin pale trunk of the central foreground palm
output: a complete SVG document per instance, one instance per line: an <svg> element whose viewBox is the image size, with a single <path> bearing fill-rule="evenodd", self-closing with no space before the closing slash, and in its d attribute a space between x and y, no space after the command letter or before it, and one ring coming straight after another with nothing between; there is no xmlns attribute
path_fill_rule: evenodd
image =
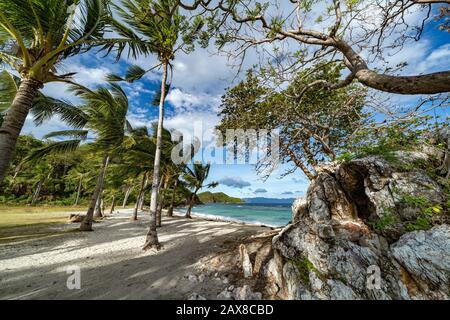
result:
<svg viewBox="0 0 450 320"><path fill-rule="evenodd" d="M143 249L160 248L158 233L156 231L156 204L158 200L158 185L159 185L159 169L161 165L161 144L162 144L162 130L164 125L164 99L166 98L166 82L167 82L167 65L163 62L163 78L161 82L161 99L159 101L159 119L158 131L156 134L156 152L155 162L153 166L153 181L152 181L152 195L150 200L150 226L145 239Z"/></svg>

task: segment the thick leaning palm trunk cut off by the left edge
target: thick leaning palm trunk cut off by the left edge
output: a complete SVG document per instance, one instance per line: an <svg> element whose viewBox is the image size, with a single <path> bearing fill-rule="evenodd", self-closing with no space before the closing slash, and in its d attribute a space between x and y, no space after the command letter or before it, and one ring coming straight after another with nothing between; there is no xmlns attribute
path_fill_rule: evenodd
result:
<svg viewBox="0 0 450 320"><path fill-rule="evenodd" d="M16 149L19 137L33 100L42 87L42 83L34 79L23 79L16 96L8 109L0 127L0 183L5 178L9 163Z"/></svg>

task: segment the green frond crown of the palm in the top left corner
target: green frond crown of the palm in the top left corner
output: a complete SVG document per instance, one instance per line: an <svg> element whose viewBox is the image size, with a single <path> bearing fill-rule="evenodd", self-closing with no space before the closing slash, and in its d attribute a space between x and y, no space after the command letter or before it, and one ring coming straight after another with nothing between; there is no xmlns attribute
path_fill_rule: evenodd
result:
<svg viewBox="0 0 450 320"><path fill-rule="evenodd" d="M1 0L0 63L42 83L58 64L103 38L110 17L105 0ZM2 45L7 44L7 45Z"/></svg>

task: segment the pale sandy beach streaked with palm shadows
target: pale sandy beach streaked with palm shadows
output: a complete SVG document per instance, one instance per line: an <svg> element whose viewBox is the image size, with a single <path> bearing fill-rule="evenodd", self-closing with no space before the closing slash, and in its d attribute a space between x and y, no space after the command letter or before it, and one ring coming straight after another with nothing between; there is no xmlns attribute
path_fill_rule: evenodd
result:
<svg viewBox="0 0 450 320"><path fill-rule="evenodd" d="M67 213L67 216L69 213ZM269 228L224 221L164 218L163 250L144 252L148 216L130 221L131 209L95 223L94 232L0 245L0 299L186 299L197 292L213 299L226 287L221 275L192 281L198 262L235 247ZM61 230L58 230L61 231ZM81 289L69 290L68 268L78 266ZM72 270L72 269L70 269Z"/></svg>

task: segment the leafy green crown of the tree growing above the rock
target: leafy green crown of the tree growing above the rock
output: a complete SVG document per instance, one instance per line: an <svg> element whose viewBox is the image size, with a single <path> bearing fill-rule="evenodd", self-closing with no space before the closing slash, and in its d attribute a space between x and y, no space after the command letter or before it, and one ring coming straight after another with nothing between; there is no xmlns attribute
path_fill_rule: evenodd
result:
<svg viewBox="0 0 450 320"><path fill-rule="evenodd" d="M282 59L282 55L278 58ZM321 162L334 160L347 151L353 143L349 137L367 121L363 110L366 90L361 86L338 90L315 86L306 90L319 79L338 82L341 70L339 64L319 62L298 72L280 92L263 85L261 77L249 71L244 81L222 97L218 129L278 129L281 160L294 163L309 177L314 176ZM262 72L276 79L275 69ZM239 156L245 157L246 152L238 150Z"/></svg>

